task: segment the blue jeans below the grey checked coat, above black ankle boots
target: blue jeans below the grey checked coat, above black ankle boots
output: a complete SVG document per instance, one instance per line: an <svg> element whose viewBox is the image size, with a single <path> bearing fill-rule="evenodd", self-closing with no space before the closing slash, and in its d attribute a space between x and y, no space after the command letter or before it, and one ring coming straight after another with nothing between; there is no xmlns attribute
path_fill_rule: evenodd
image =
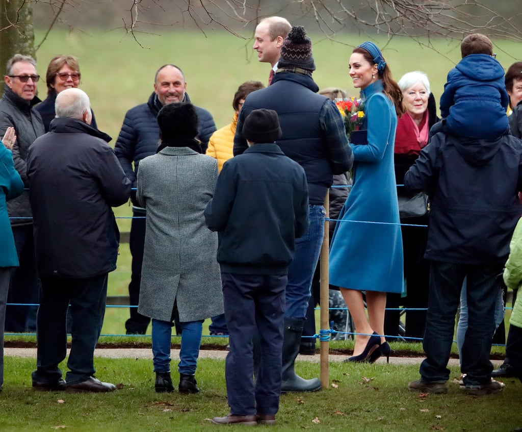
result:
<svg viewBox="0 0 522 432"><path fill-rule="evenodd" d="M155 372L170 372L172 322L152 319L152 363ZM181 349L177 371L185 375L196 373L203 321L180 322Z"/></svg>

